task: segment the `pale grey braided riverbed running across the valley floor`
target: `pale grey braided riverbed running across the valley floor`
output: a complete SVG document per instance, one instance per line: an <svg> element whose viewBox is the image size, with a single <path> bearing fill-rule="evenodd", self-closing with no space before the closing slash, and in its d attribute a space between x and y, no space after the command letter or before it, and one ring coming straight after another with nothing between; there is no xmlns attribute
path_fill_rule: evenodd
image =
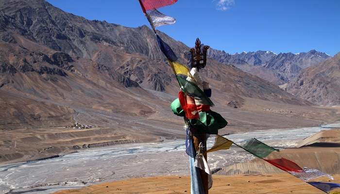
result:
<svg viewBox="0 0 340 194"><path fill-rule="evenodd" d="M310 135L340 123L299 129L256 130L225 137L235 143L256 138L275 148L296 146ZM185 133L185 131L183 131ZM213 139L209 139L209 144ZM208 154L211 169L246 162L254 157L237 146ZM80 150L59 158L0 165L0 194L50 194L125 178L189 174L185 140L117 145Z"/></svg>

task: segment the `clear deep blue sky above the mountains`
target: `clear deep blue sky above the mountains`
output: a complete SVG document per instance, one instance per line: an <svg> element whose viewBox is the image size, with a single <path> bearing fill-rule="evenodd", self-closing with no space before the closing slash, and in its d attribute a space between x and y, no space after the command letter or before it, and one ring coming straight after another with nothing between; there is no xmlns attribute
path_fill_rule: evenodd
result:
<svg viewBox="0 0 340 194"><path fill-rule="evenodd" d="M87 19L149 26L138 0L48 1ZM159 11L177 21L157 29L189 47L199 37L202 43L232 54L340 51L340 0L178 0Z"/></svg>

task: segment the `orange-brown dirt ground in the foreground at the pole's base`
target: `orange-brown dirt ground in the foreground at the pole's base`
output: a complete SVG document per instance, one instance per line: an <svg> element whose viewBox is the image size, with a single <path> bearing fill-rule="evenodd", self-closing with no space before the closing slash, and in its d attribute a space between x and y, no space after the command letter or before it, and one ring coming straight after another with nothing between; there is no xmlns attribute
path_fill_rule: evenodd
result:
<svg viewBox="0 0 340 194"><path fill-rule="evenodd" d="M340 175L334 176L340 182ZM304 181L285 174L213 176L209 194L324 194ZM328 181L327 178L318 180ZM188 194L190 177L164 176L132 178L92 185L54 194Z"/></svg>

